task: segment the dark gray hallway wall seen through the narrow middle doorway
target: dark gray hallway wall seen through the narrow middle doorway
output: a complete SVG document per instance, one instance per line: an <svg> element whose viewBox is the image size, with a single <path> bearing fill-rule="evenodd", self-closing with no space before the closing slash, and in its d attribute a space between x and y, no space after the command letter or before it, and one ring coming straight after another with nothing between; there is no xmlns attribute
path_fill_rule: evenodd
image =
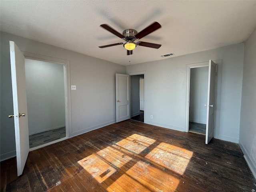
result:
<svg viewBox="0 0 256 192"><path fill-rule="evenodd" d="M131 115L140 114L140 76L132 75L131 78Z"/></svg>

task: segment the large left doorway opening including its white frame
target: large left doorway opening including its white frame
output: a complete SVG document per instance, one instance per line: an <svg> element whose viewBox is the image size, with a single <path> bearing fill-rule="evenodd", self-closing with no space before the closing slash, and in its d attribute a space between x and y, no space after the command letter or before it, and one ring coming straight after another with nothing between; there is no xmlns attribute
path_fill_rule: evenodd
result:
<svg viewBox="0 0 256 192"><path fill-rule="evenodd" d="M32 135L37 140L33 144L30 142L31 151L65 140L71 134L70 62L28 52L22 54L25 56L25 70L30 65L26 71L26 83L30 81L26 92L32 94L27 95L29 140ZM33 79L35 81L31 83ZM41 139L40 134L47 139Z"/></svg>

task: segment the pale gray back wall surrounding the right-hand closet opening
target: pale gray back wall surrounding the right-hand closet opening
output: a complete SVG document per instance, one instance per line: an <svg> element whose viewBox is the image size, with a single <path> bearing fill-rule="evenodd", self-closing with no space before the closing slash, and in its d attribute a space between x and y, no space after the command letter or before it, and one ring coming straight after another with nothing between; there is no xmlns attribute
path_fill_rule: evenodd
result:
<svg viewBox="0 0 256 192"><path fill-rule="evenodd" d="M214 137L238 143L244 44L163 58L155 62L126 66L127 73L145 72L144 122L184 131L186 101L186 64L222 60L220 126ZM150 119L153 115L153 119Z"/></svg>

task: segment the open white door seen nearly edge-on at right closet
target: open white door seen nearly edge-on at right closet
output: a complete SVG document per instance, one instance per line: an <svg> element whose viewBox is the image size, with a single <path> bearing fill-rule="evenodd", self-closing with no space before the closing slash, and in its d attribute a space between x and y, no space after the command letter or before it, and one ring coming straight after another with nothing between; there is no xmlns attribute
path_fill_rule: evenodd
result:
<svg viewBox="0 0 256 192"><path fill-rule="evenodd" d="M205 143L208 144L213 138L214 132L214 97L215 97L215 80L216 80L216 64L209 60L208 72L208 93L207 93L207 112L206 112L206 136Z"/></svg>

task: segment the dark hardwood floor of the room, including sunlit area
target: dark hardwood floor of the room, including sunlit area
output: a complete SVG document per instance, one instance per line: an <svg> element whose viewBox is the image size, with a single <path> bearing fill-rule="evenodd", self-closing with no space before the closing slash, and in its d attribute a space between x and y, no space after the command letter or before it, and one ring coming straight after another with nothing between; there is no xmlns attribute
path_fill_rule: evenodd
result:
<svg viewBox="0 0 256 192"><path fill-rule="evenodd" d="M134 120L115 123L1 162L1 192L251 192L238 144Z"/></svg>

